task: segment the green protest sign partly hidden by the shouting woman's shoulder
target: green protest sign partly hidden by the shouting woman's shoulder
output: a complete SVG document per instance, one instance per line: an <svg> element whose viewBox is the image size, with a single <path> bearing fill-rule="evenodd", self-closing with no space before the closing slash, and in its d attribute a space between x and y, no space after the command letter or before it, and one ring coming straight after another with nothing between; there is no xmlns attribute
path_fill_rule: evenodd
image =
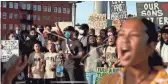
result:
<svg viewBox="0 0 168 84"><path fill-rule="evenodd" d="M104 67L98 67L97 68L97 78L96 78L96 84L98 83L99 79L102 78L106 74L112 74L118 70L121 70L121 68L108 68L107 70L104 69Z"/></svg>

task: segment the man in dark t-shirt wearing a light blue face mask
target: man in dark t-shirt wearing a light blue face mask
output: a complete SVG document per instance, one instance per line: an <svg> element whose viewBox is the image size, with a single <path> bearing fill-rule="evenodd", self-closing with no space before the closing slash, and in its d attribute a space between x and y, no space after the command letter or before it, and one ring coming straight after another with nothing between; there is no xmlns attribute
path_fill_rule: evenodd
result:
<svg viewBox="0 0 168 84"><path fill-rule="evenodd" d="M67 72L65 76L70 81L84 81L84 70L80 66L80 60L84 56L83 45L78 39L74 38L74 27L68 26L64 29L64 32L66 40L61 43L61 50L65 57L64 68Z"/></svg>

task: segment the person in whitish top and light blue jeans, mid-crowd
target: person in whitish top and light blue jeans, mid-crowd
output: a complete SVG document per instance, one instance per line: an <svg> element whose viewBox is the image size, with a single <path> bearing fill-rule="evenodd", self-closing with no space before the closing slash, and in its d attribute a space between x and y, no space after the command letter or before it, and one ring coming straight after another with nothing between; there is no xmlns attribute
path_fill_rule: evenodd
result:
<svg viewBox="0 0 168 84"><path fill-rule="evenodd" d="M97 46L96 36L90 35L89 37L89 53L86 54L86 59L84 62L85 66L85 76L88 81L88 84L96 84L96 69L101 66L99 59L100 48Z"/></svg>

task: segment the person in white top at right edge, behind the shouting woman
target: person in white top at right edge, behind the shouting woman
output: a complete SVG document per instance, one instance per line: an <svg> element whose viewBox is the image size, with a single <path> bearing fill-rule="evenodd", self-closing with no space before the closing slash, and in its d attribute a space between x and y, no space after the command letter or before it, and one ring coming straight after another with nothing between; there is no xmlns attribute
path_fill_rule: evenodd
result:
<svg viewBox="0 0 168 84"><path fill-rule="evenodd" d="M161 29L161 38L156 46L156 50L163 58L163 62L168 66L168 25Z"/></svg>

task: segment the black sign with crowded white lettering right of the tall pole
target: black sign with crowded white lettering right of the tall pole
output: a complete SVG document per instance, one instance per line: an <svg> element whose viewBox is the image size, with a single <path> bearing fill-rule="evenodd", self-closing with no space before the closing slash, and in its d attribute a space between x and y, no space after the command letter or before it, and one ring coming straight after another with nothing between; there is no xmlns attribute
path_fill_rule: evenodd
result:
<svg viewBox="0 0 168 84"><path fill-rule="evenodd" d="M124 20L127 18L126 1L110 1L110 18Z"/></svg>

